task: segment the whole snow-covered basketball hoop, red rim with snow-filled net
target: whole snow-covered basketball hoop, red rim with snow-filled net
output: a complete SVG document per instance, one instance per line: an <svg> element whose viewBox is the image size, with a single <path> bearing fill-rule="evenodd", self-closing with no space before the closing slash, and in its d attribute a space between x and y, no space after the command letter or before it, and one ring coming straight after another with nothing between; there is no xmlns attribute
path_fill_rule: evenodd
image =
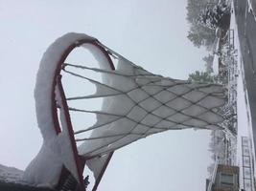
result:
<svg viewBox="0 0 256 191"><path fill-rule="evenodd" d="M76 54L74 50L79 47L89 54L83 49ZM91 60L99 67L88 67L94 66ZM84 62L87 65L81 65ZM91 90L87 82L96 87L95 94L83 94L88 92L83 89ZM99 99L102 108L89 109L88 105ZM44 53L36 75L36 117L45 141L43 150L27 168L26 179L36 184L49 184L49 180L57 184L64 165L82 181L79 161L83 157L97 187L116 149L167 130L221 129L220 107L224 102L220 85L151 74L94 37L67 33ZM95 124L84 125L89 119L93 121L92 116L96 116ZM42 166L50 166L51 171L38 171Z"/></svg>

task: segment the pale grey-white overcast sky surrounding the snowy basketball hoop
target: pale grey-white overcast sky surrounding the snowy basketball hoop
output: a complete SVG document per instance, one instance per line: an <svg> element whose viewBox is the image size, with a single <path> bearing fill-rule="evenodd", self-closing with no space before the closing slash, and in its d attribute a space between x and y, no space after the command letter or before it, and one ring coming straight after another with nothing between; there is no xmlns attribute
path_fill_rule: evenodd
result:
<svg viewBox="0 0 256 191"><path fill-rule="evenodd" d="M186 79L206 53L186 38L186 0L0 0L0 163L24 169L42 138L35 74L66 32L84 32L154 74ZM204 191L209 131L170 131L117 151L99 190Z"/></svg>

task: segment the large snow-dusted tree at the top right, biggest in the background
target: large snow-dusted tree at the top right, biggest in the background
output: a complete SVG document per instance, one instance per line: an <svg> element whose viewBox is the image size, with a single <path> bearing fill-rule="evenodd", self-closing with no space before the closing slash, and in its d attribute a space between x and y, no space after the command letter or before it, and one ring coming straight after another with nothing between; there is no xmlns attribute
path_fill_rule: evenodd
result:
<svg viewBox="0 0 256 191"><path fill-rule="evenodd" d="M223 26L226 19L222 15L228 11L218 0L188 0L187 21L190 24L189 40L196 47L211 50L216 38L216 28Z"/></svg>

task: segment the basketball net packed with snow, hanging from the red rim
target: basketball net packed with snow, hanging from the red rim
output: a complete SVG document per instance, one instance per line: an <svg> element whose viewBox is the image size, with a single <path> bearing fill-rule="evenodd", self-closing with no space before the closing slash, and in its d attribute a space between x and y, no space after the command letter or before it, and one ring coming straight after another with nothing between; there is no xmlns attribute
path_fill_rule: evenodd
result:
<svg viewBox="0 0 256 191"><path fill-rule="evenodd" d="M224 104L221 85L192 83L151 74L123 57L117 69L108 71L65 63L63 73L90 81L96 88L91 96L68 97L67 100L104 97L101 111L72 108L71 112L91 113L97 122L75 132L91 131L79 147L85 157L102 156L139 138L167 130L186 128L220 129L222 117L219 109ZM70 70L91 70L101 73L106 80L97 81Z"/></svg>

